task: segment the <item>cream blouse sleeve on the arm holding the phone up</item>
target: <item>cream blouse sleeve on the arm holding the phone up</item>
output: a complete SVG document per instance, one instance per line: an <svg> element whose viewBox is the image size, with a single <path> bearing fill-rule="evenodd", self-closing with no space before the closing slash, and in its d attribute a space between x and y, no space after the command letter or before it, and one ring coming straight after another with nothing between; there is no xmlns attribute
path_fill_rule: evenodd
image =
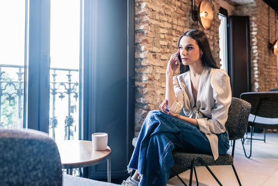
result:
<svg viewBox="0 0 278 186"><path fill-rule="evenodd" d="M174 95L176 95L176 101L174 101L174 103L172 104L170 111L172 111L172 113L179 114L181 112L181 109L183 108L183 90L179 85L177 76L173 77L173 84L174 84Z"/></svg>

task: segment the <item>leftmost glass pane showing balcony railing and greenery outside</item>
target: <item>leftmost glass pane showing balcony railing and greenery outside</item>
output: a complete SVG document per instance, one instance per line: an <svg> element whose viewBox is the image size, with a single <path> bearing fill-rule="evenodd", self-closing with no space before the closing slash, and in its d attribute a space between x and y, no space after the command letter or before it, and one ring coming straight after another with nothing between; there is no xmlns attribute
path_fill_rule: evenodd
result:
<svg viewBox="0 0 278 186"><path fill-rule="evenodd" d="M25 0L0 1L0 127L24 127Z"/></svg>

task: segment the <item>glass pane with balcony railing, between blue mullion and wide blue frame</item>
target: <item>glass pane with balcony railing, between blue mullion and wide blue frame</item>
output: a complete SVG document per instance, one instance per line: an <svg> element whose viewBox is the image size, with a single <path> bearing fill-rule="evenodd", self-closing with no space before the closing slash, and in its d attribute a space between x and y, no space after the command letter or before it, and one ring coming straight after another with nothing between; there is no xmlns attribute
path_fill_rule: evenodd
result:
<svg viewBox="0 0 278 186"><path fill-rule="evenodd" d="M51 1L49 136L79 139L79 0Z"/></svg>

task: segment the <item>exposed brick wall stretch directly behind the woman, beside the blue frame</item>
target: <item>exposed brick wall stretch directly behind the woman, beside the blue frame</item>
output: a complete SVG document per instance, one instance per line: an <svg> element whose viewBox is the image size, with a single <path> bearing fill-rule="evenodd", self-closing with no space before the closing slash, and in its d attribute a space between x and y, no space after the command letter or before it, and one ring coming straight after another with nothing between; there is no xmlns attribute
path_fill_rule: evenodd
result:
<svg viewBox="0 0 278 186"><path fill-rule="evenodd" d="M211 3L215 21L205 33L215 61L219 63L219 5L215 1ZM148 111L159 109L165 98L167 61L177 51L179 36L188 29L202 29L192 20L191 7L191 0L136 0L136 132Z"/></svg>

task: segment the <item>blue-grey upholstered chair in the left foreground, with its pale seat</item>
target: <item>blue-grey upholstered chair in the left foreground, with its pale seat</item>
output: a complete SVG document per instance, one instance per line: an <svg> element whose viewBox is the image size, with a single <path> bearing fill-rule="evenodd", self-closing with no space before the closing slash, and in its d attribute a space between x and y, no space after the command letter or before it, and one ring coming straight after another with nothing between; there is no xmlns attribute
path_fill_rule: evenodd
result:
<svg viewBox="0 0 278 186"><path fill-rule="evenodd" d="M53 139L36 130L0 130L0 185L114 185L63 175Z"/></svg>

